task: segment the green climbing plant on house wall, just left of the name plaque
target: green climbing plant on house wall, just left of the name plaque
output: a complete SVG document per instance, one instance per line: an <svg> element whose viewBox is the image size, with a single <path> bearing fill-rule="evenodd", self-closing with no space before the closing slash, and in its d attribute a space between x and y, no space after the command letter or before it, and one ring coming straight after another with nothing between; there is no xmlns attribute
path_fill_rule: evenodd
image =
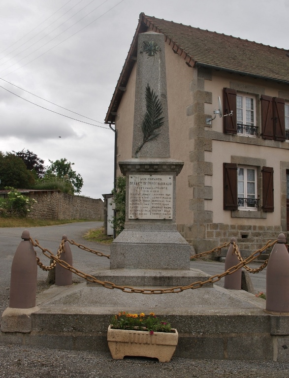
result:
<svg viewBox="0 0 289 378"><path fill-rule="evenodd" d="M116 215L112 221L116 234L120 234L125 228L126 221L126 177L119 176L116 180L116 190L112 190Z"/></svg>

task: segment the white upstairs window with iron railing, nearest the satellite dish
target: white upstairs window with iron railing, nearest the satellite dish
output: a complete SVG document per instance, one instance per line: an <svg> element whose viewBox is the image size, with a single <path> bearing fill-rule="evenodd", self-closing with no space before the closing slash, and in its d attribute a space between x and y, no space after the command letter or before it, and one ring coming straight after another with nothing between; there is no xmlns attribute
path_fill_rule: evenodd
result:
<svg viewBox="0 0 289 378"><path fill-rule="evenodd" d="M255 98L248 95L236 96L237 133L246 136L256 136Z"/></svg>

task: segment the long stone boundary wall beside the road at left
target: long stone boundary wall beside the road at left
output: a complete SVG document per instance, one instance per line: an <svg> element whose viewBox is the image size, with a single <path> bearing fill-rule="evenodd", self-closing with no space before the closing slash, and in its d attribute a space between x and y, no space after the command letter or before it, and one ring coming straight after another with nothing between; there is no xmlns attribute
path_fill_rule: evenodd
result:
<svg viewBox="0 0 289 378"><path fill-rule="evenodd" d="M39 190L25 193L37 202L28 215L31 219L90 219L103 221L103 201L59 190Z"/></svg>

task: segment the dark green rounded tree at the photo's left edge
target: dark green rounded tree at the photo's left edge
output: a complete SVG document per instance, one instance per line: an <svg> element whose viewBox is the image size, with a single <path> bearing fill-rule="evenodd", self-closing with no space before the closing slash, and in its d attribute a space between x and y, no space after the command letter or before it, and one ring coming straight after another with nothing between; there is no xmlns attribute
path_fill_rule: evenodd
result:
<svg viewBox="0 0 289 378"><path fill-rule="evenodd" d="M26 168L24 161L12 153L0 152L0 189L13 187L29 189L35 182L33 174Z"/></svg>

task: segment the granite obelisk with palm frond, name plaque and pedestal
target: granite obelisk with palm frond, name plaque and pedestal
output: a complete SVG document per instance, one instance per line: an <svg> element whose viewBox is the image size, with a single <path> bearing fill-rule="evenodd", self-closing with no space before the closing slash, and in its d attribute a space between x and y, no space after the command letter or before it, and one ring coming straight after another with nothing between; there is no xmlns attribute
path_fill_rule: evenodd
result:
<svg viewBox="0 0 289 378"><path fill-rule="evenodd" d="M170 158L164 36L138 36L132 158L119 162L127 178L125 229L111 245L111 269L190 269L191 246L175 223L176 176Z"/></svg>

